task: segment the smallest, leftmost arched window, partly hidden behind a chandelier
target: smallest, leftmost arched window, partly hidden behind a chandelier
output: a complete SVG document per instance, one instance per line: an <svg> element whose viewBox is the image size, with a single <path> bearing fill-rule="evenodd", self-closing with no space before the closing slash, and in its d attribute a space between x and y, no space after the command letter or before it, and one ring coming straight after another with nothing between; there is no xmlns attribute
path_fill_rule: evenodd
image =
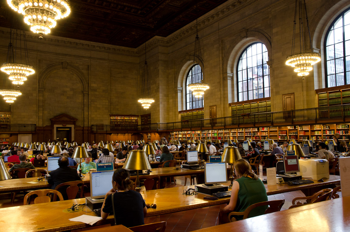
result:
<svg viewBox="0 0 350 232"><path fill-rule="evenodd" d="M199 66L199 64L195 64L188 71L188 74L186 77L186 109L187 110L203 107L203 97L196 98L192 94L192 91L188 88L189 84L198 83L202 80L203 80L203 73L202 73L201 66Z"/></svg>

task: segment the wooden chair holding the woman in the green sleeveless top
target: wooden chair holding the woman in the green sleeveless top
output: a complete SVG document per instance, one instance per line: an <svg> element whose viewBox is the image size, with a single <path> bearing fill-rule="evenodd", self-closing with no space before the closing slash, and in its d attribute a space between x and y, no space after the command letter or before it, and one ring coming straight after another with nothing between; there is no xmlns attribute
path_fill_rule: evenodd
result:
<svg viewBox="0 0 350 232"><path fill-rule="evenodd" d="M237 219L234 216L239 216L239 215L243 215L243 219L246 219L249 217L249 213L253 209L255 209L256 207L259 207L259 206L264 206L264 205L268 206L267 209L265 210L264 214L280 211L284 202L285 202L285 200L282 199L282 200L269 200L267 202L259 202L259 203L252 204L243 212L231 212L231 213L229 213L229 221L230 222L236 221Z"/></svg>

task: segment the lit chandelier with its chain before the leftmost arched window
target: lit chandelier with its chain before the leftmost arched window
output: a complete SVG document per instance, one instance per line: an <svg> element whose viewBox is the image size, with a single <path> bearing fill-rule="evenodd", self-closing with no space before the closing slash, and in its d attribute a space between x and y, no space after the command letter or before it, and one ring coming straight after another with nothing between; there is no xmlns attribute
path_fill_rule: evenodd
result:
<svg viewBox="0 0 350 232"><path fill-rule="evenodd" d="M197 28L197 35L195 39L195 52L193 54L193 66L196 63L200 63L202 61L202 50L201 50L201 43L198 36L198 22L196 20L196 28ZM202 62L203 63L203 62ZM201 72L199 75L201 75L201 79L197 83L189 84L187 87L192 91L192 94L195 95L195 97L200 98L203 96L204 91L209 89L209 84L205 83L204 81L204 75L203 72Z"/></svg>

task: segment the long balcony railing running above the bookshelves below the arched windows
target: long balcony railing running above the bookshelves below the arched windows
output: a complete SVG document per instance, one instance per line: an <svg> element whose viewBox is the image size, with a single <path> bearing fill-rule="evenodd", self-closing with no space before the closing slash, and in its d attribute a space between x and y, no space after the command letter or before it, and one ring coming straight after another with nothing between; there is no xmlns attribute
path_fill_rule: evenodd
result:
<svg viewBox="0 0 350 232"><path fill-rule="evenodd" d="M280 124L321 123L350 121L350 104L318 108L235 115L222 118L186 120L182 122L151 123L142 125L91 125L92 132L113 131L172 131L183 129L210 129L225 127L259 127Z"/></svg>

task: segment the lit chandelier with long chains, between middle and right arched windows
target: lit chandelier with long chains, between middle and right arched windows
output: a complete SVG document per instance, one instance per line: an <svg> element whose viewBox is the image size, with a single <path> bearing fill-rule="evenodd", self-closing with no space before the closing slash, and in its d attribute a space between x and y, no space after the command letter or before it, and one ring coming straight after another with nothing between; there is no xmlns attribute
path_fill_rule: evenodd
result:
<svg viewBox="0 0 350 232"><path fill-rule="evenodd" d="M292 55L287 56L286 64L292 66L294 71L298 74L298 76L302 76L303 79L305 76L309 75L309 72L313 69L313 65L321 60L320 53L313 52L313 46L311 42L310 28L309 28L309 20L307 17L306 11L306 3L304 1L305 7L305 15L306 15L306 25L309 34L310 40L310 48L311 52L305 52L304 39L303 39L303 9L301 6L302 0L295 1L295 9L294 9L294 27L293 27L293 39L292 39ZM298 7L299 3L299 7ZM299 41L300 41L300 53L295 54L295 33L296 33L296 15L299 12Z"/></svg>

